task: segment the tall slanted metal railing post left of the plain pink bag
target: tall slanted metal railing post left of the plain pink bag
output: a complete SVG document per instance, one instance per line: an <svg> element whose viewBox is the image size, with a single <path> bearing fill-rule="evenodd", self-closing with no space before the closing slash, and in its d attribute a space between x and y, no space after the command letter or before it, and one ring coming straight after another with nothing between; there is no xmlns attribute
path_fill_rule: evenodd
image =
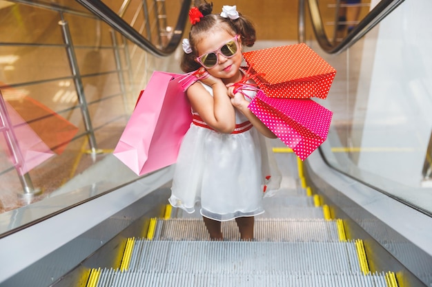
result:
<svg viewBox="0 0 432 287"><path fill-rule="evenodd" d="M83 116L84 125L88 134L88 144L90 145L91 153L96 154L99 153L99 151L97 151L95 131L93 130L92 122L90 120L90 114L88 112L88 105L86 96L84 95L84 86L81 81L81 74L79 73L77 56L75 54L75 49L72 44L72 36L70 34L68 22L64 20L62 12L60 12L60 17L61 21L59 21L59 25L61 26L63 40L66 44L66 52L68 54L70 70L72 71L72 76L74 78L75 89L77 91L77 96L81 107L81 114Z"/></svg>

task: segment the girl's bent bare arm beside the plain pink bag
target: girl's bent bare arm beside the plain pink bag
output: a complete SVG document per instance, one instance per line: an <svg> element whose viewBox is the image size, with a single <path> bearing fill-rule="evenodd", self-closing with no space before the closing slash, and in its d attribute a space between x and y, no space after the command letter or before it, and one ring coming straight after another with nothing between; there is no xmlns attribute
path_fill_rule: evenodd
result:
<svg viewBox="0 0 432 287"><path fill-rule="evenodd" d="M213 89L213 96L207 92L202 83L191 85L186 94L193 111L211 128L220 133L230 134L235 129L235 110L222 80L208 76L201 80Z"/></svg>

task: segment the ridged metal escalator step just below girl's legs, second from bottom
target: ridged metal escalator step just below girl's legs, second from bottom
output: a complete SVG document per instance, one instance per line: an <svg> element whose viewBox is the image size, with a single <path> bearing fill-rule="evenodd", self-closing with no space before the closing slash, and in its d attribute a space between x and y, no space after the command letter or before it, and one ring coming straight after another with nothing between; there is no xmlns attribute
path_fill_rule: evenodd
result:
<svg viewBox="0 0 432 287"><path fill-rule="evenodd" d="M354 242L136 240L129 270L361 272Z"/></svg>

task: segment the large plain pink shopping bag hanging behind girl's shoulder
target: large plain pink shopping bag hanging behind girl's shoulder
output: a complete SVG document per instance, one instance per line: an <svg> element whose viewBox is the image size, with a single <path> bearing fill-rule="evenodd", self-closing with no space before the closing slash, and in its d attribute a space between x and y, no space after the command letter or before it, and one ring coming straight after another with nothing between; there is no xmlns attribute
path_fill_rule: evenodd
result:
<svg viewBox="0 0 432 287"><path fill-rule="evenodd" d="M114 156L138 176L177 161L181 140L192 123L185 90L194 81L191 74L155 71L141 92L114 150Z"/></svg>

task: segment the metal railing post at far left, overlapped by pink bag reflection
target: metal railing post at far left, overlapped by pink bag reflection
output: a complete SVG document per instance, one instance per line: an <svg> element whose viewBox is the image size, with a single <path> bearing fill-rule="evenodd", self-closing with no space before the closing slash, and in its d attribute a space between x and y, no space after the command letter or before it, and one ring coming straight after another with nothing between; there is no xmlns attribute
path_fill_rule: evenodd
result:
<svg viewBox="0 0 432 287"><path fill-rule="evenodd" d="M35 189L35 187L33 187L30 174L28 173L23 174L22 168L24 164L24 158L21 153L21 149L19 148L19 142L17 136L14 133L12 122L8 114L8 109L6 108L6 103L3 99L3 95L1 94L1 91L0 91L0 131L3 132L3 135L6 139L6 145L8 146L8 149L14 161L12 162L12 164L14 164L15 170L18 173L19 181L21 182L21 186L23 187L22 195L31 198L32 196L41 193L41 189Z"/></svg>

